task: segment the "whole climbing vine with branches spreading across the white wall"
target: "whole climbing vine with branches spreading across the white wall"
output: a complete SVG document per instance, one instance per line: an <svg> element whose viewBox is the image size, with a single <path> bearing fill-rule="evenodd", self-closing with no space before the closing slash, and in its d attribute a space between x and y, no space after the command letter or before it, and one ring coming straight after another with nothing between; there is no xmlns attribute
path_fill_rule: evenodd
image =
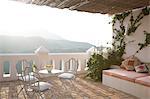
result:
<svg viewBox="0 0 150 99"><path fill-rule="evenodd" d="M129 11L129 12L124 12L121 14L116 14L113 17L112 20L112 26L113 26L113 50L109 53L108 58L111 58L113 61L118 60L117 64L120 64L122 61L122 55L125 53L125 46L127 43L133 42L133 41L129 41L129 42L125 42L125 37L128 35L132 35L133 33L135 33L135 31L138 29L138 27L141 25L141 20L144 18L144 16L147 16L150 14L150 8L145 7L141 10L141 12L137 15L137 16L133 16L133 12ZM128 28L126 28L124 26L124 20L126 19L126 17L128 17L130 15L130 22L128 24ZM119 28L115 28L115 23L118 22L119 23ZM144 44L138 44L140 46L141 50L142 48L148 46L150 40L149 40L149 34L146 33L146 41ZM138 52L138 51L137 51ZM113 62L112 62L113 63Z"/></svg>

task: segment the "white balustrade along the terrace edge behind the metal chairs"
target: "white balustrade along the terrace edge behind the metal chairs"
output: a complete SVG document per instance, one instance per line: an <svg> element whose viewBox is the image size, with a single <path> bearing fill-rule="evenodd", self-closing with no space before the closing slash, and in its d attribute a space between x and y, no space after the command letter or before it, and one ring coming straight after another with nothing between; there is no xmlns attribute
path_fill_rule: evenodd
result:
<svg viewBox="0 0 150 99"><path fill-rule="evenodd" d="M84 71L88 53L28 53L28 54L0 54L0 81L11 81L17 79L16 65L21 60L33 61L39 69L46 64L52 64L54 69L66 71L64 63L70 58L78 60L78 71ZM9 65L4 72L5 64Z"/></svg>

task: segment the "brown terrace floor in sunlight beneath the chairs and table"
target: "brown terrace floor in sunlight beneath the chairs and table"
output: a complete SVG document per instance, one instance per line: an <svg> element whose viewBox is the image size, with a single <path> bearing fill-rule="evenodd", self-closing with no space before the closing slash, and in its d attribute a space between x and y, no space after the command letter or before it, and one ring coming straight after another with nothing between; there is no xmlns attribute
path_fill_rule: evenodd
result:
<svg viewBox="0 0 150 99"><path fill-rule="evenodd" d="M51 90L44 92L44 99L137 99L134 96L104 86L100 82L85 79L82 76L78 76L76 81L73 82L75 88L67 84L69 86L67 90L64 90L61 81L57 77L42 80L53 85ZM20 89L19 84L18 81L1 82L0 99L25 99L26 94L24 91L17 96L17 92ZM40 99L38 96L34 96L31 99Z"/></svg>

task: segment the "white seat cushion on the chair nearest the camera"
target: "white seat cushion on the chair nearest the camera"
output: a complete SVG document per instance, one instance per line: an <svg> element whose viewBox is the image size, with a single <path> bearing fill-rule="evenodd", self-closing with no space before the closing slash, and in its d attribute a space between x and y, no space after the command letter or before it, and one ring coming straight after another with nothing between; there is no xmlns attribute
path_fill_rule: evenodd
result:
<svg viewBox="0 0 150 99"><path fill-rule="evenodd" d="M47 90L51 87L52 85L47 82L36 82L32 84L32 89L37 90L37 91L44 91Z"/></svg>

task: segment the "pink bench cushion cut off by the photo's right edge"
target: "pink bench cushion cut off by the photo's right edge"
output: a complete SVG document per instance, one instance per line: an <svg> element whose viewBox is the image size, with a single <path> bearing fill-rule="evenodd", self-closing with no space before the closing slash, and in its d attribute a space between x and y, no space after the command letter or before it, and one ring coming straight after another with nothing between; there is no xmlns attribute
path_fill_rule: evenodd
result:
<svg viewBox="0 0 150 99"><path fill-rule="evenodd" d="M150 87L150 76L137 78L135 82Z"/></svg>

